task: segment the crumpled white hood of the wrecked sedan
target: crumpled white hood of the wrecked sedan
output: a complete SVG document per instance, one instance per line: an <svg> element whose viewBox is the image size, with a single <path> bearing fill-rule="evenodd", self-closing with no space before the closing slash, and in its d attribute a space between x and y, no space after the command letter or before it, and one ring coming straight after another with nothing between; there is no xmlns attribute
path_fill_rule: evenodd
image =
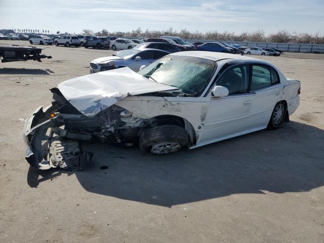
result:
<svg viewBox="0 0 324 243"><path fill-rule="evenodd" d="M78 111L94 116L128 95L178 90L120 68L80 76L60 83L58 89Z"/></svg>

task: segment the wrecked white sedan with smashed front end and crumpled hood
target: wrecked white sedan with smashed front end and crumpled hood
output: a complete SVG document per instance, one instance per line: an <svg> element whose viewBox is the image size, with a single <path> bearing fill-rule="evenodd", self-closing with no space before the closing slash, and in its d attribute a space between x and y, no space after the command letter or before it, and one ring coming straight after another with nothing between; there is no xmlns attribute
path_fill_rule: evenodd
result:
<svg viewBox="0 0 324 243"><path fill-rule="evenodd" d="M168 154L261 129L277 129L299 105L300 82L272 64L225 53L178 52L136 73L128 67L69 79L25 124L34 167L83 169L78 141L139 144Z"/></svg>

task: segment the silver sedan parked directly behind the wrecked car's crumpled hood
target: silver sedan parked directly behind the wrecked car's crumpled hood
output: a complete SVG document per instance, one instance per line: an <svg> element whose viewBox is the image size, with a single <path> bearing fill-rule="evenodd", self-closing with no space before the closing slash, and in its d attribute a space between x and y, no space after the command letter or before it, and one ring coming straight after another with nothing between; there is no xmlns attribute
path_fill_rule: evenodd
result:
<svg viewBox="0 0 324 243"><path fill-rule="evenodd" d="M138 72L142 65L149 65L155 60L170 54L154 49L130 49L112 57L100 57L90 63L90 73L129 67Z"/></svg>

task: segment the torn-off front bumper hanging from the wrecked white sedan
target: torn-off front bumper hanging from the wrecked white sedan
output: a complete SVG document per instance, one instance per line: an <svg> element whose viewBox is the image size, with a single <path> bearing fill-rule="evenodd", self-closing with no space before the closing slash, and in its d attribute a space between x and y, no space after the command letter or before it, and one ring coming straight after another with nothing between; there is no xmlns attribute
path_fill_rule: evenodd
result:
<svg viewBox="0 0 324 243"><path fill-rule="evenodd" d="M43 106L38 107L26 120L26 160L31 166L41 170L57 167L70 171L84 169L93 154L82 151L78 141L56 135L51 128L51 119L42 122L45 117L49 117L51 108L50 106L43 110Z"/></svg>

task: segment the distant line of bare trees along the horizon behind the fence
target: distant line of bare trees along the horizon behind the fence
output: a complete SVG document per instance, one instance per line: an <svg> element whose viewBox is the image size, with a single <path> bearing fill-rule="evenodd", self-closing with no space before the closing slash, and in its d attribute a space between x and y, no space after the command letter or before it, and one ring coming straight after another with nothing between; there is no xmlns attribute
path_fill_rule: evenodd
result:
<svg viewBox="0 0 324 243"><path fill-rule="evenodd" d="M84 29L83 34L97 35L97 36L118 36L118 37L133 37L133 38L153 38L160 37L161 35L179 36L182 39L199 39L204 41L232 41L232 42L269 42L269 43L303 43L303 44L324 44L324 36L319 33L290 33L287 30L280 30L276 33L266 35L263 30L257 30L254 32L242 32L241 34L235 34L234 32L224 31L222 33L218 31L209 31L206 33L190 32L187 29L181 29L180 31L169 28L167 30L149 30L142 31L141 28L131 30L127 32L114 31L109 32L106 29L102 31L94 32L91 29Z"/></svg>

